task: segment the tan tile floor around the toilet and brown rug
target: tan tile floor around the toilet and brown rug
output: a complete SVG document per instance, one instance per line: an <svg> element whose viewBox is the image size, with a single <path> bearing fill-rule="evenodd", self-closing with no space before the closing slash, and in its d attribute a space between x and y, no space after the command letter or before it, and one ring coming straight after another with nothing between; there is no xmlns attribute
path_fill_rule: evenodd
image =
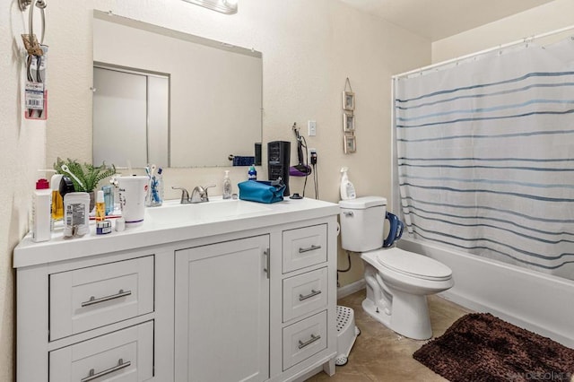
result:
<svg viewBox="0 0 574 382"><path fill-rule="evenodd" d="M446 381L413 359L413 352L426 341L404 338L379 324L362 310L364 298L365 290L362 290L338 301L339 305L354 309L355 325L361 329L347 364L337 366L331 378L321 372L307 382ZM435 337L443 334L457 318L471 312L436 295L429 296L428 300Z"/></svg>

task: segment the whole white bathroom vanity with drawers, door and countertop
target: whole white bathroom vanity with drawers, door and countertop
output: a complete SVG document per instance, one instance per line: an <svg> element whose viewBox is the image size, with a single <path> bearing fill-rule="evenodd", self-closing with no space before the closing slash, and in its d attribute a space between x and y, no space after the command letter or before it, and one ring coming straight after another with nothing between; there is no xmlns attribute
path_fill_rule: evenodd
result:
<svg viewBox="0 0 574 382"><path fill-rule="evenodd" d="M13 262L17 381L332 375L338 205L230 201L247 213L227 216L215 203L227 202L213 202L222 215L213 221L209 204L181 207L201 221L152 219L180 213L175 205L120 233L23 239Z"/></svg>

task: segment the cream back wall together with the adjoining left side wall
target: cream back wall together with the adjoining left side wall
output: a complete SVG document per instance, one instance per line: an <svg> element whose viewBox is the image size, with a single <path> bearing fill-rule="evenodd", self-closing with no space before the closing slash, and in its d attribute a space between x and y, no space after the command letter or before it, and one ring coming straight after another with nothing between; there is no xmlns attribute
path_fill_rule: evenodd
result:
<svg viewBox="0 0 574 382"><path fill-rule="evenodd" d="M48 2L49 119L22 121L20 91L22 56L18 48L28 13L11 0L0 12L0 139L4 185L0 204L0 380L14 378L14 273L12 250L29 229L30 199L37 169L52 167L57 156L91 161L91 12L96 8L218 39L263 52L264 142L294 142L291 125L306 132L317 121L320 198L338 201L339 169L360 195L390 193L390 75L430 63L431 45L395 26L359 13L335 0L241 0L239 13L214 13L180 0L58 0ZM36 20L39 13L36 13ZM39 30L36 28L36 30ZM342 100L345 78L356 92L358 152L343 153ZM291 156L295 158L295 145ZM264 169L262 178L265 177ZM168 169L172 185L194 187L216 183L221 193L222 169ZM235 184L246 178L234 169ZM302 180L291 188L300 192ZM237 190L236 190L237 191ZM307 195L313 195L312 184ZM340 254L342 265L346 256ZM342 282L361 278L361 262ZM356 265L356 266L355 266Z"/></svg>

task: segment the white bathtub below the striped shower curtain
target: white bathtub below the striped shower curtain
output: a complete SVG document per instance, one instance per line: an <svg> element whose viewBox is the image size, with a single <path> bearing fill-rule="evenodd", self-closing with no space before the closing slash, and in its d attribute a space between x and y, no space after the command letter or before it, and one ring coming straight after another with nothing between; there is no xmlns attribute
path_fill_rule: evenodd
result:
<svg viewBox="0 0 574 382"><path fill-rule="evenodd" d="M406 236L398 247L434 258L452 269L455 286L440 296L574 348L574 281Z"/></svg>

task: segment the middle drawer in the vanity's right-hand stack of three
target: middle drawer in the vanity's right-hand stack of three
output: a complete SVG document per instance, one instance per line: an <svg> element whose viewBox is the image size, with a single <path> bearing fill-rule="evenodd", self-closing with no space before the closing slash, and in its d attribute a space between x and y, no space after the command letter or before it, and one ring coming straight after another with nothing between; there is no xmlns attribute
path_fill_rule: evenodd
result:
<svg viewBox="0 0 574 382"><path fill-rule="evenodd" d="M326 308L327 269L302 273L283 280L283 322Z"/></svg>

